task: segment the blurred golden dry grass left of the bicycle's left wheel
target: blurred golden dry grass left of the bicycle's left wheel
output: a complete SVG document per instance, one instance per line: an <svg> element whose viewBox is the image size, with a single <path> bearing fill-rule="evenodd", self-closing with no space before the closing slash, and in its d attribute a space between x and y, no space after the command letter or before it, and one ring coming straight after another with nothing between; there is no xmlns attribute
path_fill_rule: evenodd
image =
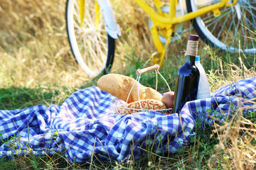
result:
<svg viewBox="0 0 256 170"><path fill-rule="evenodd" d="M0 84L79 86L65 30L65 1L0 1Z"/></svg>

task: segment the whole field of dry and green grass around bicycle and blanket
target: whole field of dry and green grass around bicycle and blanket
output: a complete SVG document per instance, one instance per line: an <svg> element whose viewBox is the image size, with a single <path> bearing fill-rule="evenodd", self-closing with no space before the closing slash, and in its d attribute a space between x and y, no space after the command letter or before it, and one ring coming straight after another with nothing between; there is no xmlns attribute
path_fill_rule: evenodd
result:
<svg viewBox="0 0 256 170"><path fill-rule="evenodd" d="M113 73L135 77L137 69L149 66L155 51L146 26L147 17L134 1L114 6L122 38L117 40ZM87 77L76 64L65 30L64 0L0 0L0 109L28 108L43 104L61 105L73 92L96 86L97 78ZM129 17L124 17L129 16ZM125 18L125 19L124 19ZM144 22L142 22L144 21ZM186 23L190 25L190 23ZM129 29L129 32L127 30ZM169 58L160 72L174 90L176 72L185 61L186 42L193 30L169 45ZM211 91L225 84L255 77L255 55L229 54L208 47L202 41L198 55L206 69ZM144 86L154 86L154 76L142 77ZM159 91L167 91L159 81ZM244 118L242 108L235 120L202 132L192 145L178 154L149 157L127 164L90 162L73 164L63 154L54 157L20 156L0 158L1 169L255 169L255 116ZM255 113L254 113L255 115ZM97 160L96 160L97 161Z"/></svg>

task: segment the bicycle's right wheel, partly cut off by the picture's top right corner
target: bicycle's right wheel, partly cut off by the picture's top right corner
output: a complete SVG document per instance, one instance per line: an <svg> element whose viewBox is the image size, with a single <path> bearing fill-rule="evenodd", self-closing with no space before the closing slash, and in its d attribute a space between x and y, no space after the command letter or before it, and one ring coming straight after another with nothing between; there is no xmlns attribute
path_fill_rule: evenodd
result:
<svg viewBox="0 0 256 170"><path fill-rule="evenodd" d="M186 0L188 12L219 0ZM213 13L193 19L193 27L206 43L228 52L256 53L256 1L238 1L234 6L220 8L220 16Z"/></svg>

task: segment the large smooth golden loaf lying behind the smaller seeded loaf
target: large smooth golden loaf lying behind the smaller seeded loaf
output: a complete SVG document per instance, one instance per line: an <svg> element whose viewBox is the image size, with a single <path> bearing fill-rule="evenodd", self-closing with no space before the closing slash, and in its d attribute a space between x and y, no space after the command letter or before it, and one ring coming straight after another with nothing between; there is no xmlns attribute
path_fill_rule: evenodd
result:
<svg viewBox="0 0 256 170"><path fill-rule="evenodd" d="M117 98L121 98L123 101L127 101L129 92L132 89L127 103L144 99L161 101L162 98L162 95L158 91L139 84L139 82L132 77L127 77L121 74L106 74L98 79L97 86L103 91L107 91L108 93L117 96ZM134 87L132 88L132 86Z"/></svg>

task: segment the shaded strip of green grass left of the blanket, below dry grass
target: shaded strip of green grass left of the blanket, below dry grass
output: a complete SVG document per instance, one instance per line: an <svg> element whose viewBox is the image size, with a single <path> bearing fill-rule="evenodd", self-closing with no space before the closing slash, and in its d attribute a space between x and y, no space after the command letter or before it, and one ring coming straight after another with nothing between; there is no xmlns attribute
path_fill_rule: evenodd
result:
<svg viewBox="0 0 256 170"><path fill-rule="evenodd" d="M12 110L16 108L28 108L43 104L61 104L73 92L74 88L58 86L35 86L34 88L24 88L10 86L0 89L0 109Z"/></svg>

